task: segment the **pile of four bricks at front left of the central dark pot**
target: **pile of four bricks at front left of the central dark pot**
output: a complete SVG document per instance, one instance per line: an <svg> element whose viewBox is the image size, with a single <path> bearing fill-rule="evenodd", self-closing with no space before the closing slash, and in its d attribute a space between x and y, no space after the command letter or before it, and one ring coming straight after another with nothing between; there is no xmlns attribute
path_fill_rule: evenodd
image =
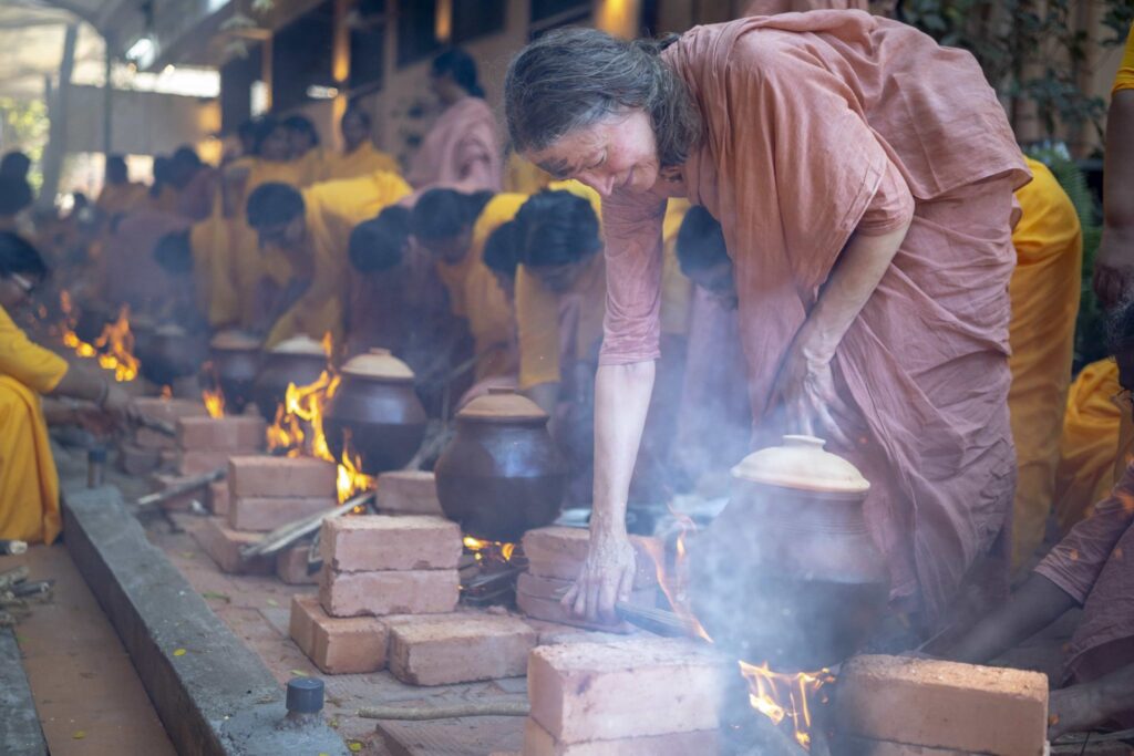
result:
<svg viewBox="0 0 1134 756"><path fill-rule="evenodd" d="M327 673L387 662L412 685L523 674L535 632L510 617L456 612L460 530L440 517L327 520L320 595L291 602L291 638Z"/></svg>

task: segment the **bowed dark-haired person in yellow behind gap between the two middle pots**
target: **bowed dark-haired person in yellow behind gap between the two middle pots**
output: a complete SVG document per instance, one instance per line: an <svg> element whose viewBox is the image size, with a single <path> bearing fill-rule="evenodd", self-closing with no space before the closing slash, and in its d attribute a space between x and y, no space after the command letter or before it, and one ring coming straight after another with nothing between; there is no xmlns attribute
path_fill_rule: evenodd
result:
<svg viewBox="0 0 1134 756"><path fill-rule="evenodd" d="M476 359L476 381L515 374L515 324L511 308L492 271L484 244L497 228L516 216L523 194L429 189L414 204L411 230L437 262L438 277L454 315L468 322Z"/></svg>

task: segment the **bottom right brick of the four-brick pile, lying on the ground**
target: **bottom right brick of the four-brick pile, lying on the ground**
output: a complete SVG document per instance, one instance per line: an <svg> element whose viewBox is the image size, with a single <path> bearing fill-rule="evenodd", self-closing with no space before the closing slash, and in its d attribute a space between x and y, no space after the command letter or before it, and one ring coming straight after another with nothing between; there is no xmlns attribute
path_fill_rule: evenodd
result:
<svg viewBox="0 0 1134 756"><path fill-rule="evenodd" d="M518 677L534 647L535 630L515 617L416 617L390 628L390 672L409 685Z"/></svg>

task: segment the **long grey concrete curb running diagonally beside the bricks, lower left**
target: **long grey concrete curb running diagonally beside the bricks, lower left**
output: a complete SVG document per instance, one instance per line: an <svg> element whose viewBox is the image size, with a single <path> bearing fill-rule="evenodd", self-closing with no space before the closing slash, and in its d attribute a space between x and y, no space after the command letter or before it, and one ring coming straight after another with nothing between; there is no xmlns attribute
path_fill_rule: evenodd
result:
<svg viewBox="0 0 1134 756"><path fill-rule="evenodd" d="M62 500L67 550L178 753L248 754L228 722L249 710L282 716L284 690L268 668L150 543L118 489L65 490Z"/></svg>

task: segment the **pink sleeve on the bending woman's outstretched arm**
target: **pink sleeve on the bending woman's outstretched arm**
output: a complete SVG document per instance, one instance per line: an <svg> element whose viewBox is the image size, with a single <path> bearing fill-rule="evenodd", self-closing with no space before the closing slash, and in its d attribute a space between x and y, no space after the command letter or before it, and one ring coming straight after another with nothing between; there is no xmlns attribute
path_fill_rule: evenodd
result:
<svg viewBox="0 0 1134 756"><path fill-rule="evenodd" d="M652 195L615 195L602 203L607 314L600 365L644 363L661 356L665 215L666 201Z"/></svg>

